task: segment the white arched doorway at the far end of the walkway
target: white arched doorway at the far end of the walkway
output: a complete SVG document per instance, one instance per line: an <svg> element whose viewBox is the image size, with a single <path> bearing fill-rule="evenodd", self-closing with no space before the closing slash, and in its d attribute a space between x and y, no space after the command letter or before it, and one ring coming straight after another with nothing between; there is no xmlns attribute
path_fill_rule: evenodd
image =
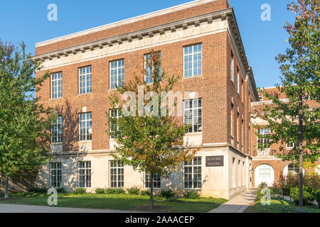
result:
<svg viewBox="0 0 320 227"><path fill-rule="evenodd" d="M255 168L255 187L259 186L262 182L272 186L274 182L274 170L271 165L261 164Z"/></svg>

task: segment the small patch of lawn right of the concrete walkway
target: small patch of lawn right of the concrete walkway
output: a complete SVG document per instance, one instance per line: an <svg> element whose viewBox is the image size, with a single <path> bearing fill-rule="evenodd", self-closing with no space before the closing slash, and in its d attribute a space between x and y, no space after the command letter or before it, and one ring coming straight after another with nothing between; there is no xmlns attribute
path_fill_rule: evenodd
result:
<svg viewBox="0 0 320 227"><path fill-rule="evenodd" d="M320 213L320 209L315 205L304 206L306 213ZM297 213L298 206L285 199L271 199L270 205L262 205L257 201L250 209L253 213Z"/></svg>

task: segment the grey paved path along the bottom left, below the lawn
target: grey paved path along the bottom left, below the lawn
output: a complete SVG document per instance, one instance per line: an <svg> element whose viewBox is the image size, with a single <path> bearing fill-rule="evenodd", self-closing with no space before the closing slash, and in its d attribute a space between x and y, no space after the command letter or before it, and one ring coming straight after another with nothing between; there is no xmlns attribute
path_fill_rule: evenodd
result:
<svg viewBox="0 0 320 227"><path fill-rule="evenodd" d="M65 208L53 206L30 206L0 204L0 213L135 213L132 211L114 211L104 209Z"/></svg>

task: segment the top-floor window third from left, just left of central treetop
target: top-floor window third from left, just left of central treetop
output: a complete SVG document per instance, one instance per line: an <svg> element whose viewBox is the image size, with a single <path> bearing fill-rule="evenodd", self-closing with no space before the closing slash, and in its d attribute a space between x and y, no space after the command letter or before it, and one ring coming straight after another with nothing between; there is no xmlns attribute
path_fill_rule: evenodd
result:
<svg viewBox="0 0 320 227"><path fill-rule="evenodd" d="M110 62L110 89L122 87L124 84L124 60Z"/></svg>

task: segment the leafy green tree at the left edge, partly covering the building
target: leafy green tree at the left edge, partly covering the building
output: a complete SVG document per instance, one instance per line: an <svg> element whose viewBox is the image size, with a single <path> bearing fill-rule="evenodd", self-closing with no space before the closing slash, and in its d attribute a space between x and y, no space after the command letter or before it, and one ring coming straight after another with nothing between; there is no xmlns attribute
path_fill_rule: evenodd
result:
<svg viewBox="0 0 320 227"><path fill-rule="evenodd" d="M33 62L25 49L24 43L14 47L0 40L0 175L5 179L5 199L9 178L48 160L48 128L55 118L34 97L49 74L34 77L41 62Z"/></svg>

